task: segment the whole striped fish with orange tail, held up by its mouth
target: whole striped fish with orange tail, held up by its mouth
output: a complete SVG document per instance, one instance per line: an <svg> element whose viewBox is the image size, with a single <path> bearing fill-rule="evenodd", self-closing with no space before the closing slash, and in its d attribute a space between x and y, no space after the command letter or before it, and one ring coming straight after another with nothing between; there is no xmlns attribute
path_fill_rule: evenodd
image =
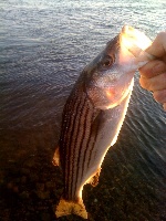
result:
<svg viewBox="0 0 166 221"><path fill-rule="evenodd" d="M98 183L102 162L116 143L127 112L134 73L152 59L145 52L151 43L144 33L123 27L74 84L64 105L53 157L53 164L62 168L64 183L55 209L58 218L76 214L87 219L83 187Z"/></svg>

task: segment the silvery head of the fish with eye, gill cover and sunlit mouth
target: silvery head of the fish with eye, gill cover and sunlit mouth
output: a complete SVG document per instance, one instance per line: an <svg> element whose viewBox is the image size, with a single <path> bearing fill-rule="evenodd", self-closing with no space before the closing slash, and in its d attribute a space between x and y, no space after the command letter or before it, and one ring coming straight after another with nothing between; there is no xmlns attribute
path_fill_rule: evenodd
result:
<svg viewBox="0 0 166 221"><path fill-rule="evenodd" d="M127 44L127 40L138 39L137 32L134 35L135 29L124 27L85 67L85 90L96 108L113 108L132 91L137 70L135 59L142 51L135 43Z"/></svg>

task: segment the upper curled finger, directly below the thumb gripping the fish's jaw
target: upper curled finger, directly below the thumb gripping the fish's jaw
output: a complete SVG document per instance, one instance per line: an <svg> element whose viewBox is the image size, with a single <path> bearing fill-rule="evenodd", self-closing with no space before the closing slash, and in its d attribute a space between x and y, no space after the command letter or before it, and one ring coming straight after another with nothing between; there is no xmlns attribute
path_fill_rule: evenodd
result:
<svg viewBox="0 0 166 221"><path fill-rule="evenodd" d="M141 75L149 78L166 72L166 63L159 60L154 60L139 69Z"/></svg>

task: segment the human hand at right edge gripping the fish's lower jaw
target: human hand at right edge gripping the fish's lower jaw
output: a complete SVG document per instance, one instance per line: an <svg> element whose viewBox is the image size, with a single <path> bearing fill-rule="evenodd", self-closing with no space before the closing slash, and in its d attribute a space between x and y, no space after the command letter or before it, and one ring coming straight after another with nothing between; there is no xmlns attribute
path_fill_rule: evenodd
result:
<svg viewBox="0 0 166 221"><path fill-rule="evenodd" d="M139 69L141 86L153 92L155 101L166 110L166 32L160 32L146 52L157 59Z"/></svg>

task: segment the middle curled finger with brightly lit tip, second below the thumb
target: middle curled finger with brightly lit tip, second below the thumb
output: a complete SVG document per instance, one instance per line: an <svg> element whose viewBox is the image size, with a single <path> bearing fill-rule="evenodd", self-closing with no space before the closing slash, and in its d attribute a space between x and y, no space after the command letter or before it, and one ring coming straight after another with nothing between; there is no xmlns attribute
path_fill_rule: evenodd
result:
<svg viewBox="0 0 166 221"><path fill-rule="evenodd" d="M166 88L166 73L159 74L152 78L141 76L139 83L143 88L155 92Z"/></svg>

